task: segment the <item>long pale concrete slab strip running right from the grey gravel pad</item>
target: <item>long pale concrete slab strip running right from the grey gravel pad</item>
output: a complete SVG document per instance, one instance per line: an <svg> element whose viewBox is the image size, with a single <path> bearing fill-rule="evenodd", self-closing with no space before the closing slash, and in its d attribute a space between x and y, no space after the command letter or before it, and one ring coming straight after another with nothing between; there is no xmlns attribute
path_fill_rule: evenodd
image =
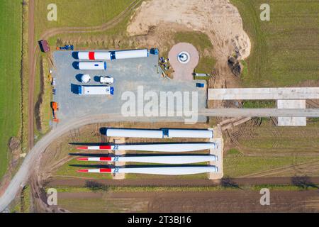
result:
<svg viewBox="0 0 319 227"><path fill-rule="evenodd" d="M319 99L319 87L208 89L208 100Z"/></svg>

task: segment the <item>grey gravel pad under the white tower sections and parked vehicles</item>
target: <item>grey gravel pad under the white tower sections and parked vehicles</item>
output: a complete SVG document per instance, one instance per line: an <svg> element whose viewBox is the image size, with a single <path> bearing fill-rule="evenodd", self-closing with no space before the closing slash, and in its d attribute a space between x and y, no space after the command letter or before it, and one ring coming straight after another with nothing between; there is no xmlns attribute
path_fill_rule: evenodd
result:
<svg viewBox="0 0 319 227"><path fill-rule="evenodd" d="M139 86L142 86L144 95L146 92L156 92L158 97L159 92L198 92L198 110L206 108L206 88L196 87L196 82L206 82L203 80L179 81L164 79L159 73L158 55L128 60L106 61L106 71L74 69L72 63L79 60L72 57L72 51L55 51L53 56L55 60L53 77L55 77L56 82L53 101L59 104L60 109L57 112L57 118L60 119L59 124L66 123L73 118L94 116L94 114L119 114L121 116L122 105L128 100L121 99L123 92L133 92L135 94L135 106L138 106L138 99L142 99L142 96L138 96ZM78 74L89 74L91 82L82 84L77 79ZM96 75L114 77L115 82L112 85L114 87L113 96L79 96L79 94L72 92L74 87L78 85L101 85L99 82L96 82ZM148 102L145 100L144 105ZM160 101L158 103L160 105ZM193 109L193 107L191 106L190 109ZM136 118L136 121L140 121L140 118ZM145 117L142 118L142 121L184 121L184 118L176 115L170 117ZM198 116L198 121L204 122L206 121L206 117Z"/></svg>

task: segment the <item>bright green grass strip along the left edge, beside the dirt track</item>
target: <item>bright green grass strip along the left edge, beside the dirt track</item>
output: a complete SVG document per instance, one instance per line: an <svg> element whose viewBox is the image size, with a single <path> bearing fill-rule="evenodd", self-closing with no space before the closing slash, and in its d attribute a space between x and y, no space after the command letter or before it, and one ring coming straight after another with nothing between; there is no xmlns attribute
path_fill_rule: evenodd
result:
<svg viewBox="0 0 319 227"><path fill-rule="evenodd" d="M21 128L21 1L0 1L0 179L9 162L8 143Z"/></svg>

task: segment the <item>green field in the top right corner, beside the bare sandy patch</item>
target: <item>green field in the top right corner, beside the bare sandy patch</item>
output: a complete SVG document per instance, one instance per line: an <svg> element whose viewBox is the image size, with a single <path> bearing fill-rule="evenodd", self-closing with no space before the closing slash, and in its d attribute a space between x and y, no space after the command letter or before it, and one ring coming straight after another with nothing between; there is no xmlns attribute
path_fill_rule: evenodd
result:
<svg viewBox="0 0 319 227"><path fill-rule="evenodd" d="M319 79L318 1L231 0L252 42L245 87L291 86ZM259 6L268 3L270 21Z"/></svg>

